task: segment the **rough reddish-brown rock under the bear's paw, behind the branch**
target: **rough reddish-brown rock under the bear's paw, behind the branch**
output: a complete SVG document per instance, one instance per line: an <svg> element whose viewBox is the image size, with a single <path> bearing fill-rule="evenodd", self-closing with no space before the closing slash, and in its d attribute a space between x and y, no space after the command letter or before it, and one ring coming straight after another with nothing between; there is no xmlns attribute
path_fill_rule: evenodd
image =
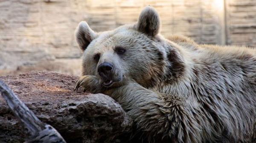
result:
<svg viewBox="0 0 256 143"><path fill-rule="evenodd" d="M127 141L133 121L111 97L73 91L77 76L31 72L0 76L37 117L53 126L67 143ZM23 143L20 123L0 97L0 143Z"/></svg>

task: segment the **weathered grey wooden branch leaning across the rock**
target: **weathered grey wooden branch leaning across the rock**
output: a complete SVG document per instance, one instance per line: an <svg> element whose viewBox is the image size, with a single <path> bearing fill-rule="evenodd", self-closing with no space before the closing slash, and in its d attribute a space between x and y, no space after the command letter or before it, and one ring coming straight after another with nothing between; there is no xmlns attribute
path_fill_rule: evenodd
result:
<svg viewBox="0 0 256 143"><path fill-rule="evenodd" d="M26 143L66 143L56 129L41 122L13 91L0 80L0 93L26 130Z"/></svg>

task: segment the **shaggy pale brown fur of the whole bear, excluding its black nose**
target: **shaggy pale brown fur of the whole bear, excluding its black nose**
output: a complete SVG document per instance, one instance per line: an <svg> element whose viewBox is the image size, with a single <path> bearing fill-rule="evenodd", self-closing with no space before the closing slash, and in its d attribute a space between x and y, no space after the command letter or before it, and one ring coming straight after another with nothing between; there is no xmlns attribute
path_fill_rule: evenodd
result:
<svg viewBox="0 0 256 143"><path fill-rule="evenodd" d="M114 98L152 142L253 143L256 124L256 50L198 45L160 34L160 18L146 7L133 25L76 30L84 51L80 86ZM126 51L119 54L116 49ZM111 87L99 64L114 65Z"/></svg>

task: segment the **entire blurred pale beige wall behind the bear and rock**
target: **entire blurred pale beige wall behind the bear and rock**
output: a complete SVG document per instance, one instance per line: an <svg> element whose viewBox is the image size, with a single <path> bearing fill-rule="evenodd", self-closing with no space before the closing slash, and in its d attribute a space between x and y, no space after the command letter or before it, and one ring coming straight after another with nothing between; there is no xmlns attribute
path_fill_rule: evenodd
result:
<svg viewBox="0 0 256 143"><path fill-rule="evenodd" d="M256 0L0 0L0 75L48 70L79 76L78 23L111 30L136 22L147 5L159 12L164 36L256 46Z"/></svg>

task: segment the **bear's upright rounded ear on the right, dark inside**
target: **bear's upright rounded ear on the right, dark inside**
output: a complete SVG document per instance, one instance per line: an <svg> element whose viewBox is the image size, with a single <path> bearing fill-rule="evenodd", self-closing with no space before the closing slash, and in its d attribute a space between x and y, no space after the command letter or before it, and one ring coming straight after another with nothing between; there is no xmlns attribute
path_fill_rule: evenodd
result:
<svg viewBox="0 0 256 143"><path fill-rule="evenodd" d="M138 31L147 34L148 36L155 36L160 31L160 17L157 11L151 7L146 6L140 13L137 23Z"/></svg>

